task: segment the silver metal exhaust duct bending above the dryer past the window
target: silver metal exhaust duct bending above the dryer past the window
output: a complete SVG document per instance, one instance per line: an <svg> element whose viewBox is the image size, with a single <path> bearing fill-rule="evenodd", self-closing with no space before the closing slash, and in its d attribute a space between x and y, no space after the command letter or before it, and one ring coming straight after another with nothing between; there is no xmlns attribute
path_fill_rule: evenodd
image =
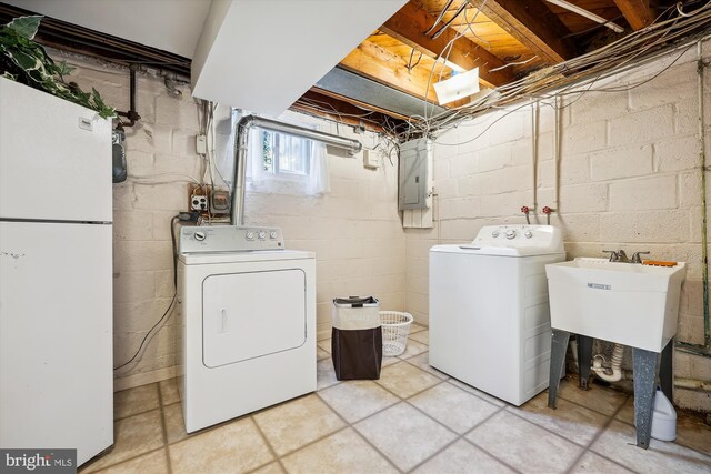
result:
<svg viewBox="0 0 711 474"><path fill-rule="evenodd" d="M232 225L244 225L244 181L247 179L246 163L247 150L249 145L249 131L253 128L260 128L266 131L284 133L291 137L298 137L307 140L313 140L328 147L336 147L348 151L351 155L360 152L361 142L331 133L320 132L303 127L293 125L291 123L280 122L278 120L264 119L257 115L244 115L240 119L236 127L234 139L234 179L232 192L232 209L230 210L230 223Z"/></svg>

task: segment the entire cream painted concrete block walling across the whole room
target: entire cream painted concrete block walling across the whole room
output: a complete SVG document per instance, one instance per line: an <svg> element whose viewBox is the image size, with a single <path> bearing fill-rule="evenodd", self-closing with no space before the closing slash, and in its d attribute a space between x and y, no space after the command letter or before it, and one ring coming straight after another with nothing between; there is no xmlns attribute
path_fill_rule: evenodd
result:
<svg viewBox="0 0 711 474"><path fill-rule="evenodd" d="M73 56L66 59L79 67L72 79L82 88L96 87L107 102L128 109L126 69ZM643 85L621 90L640 78L652 78L674 59L670 56L612 78L608 85L613 87L608 89L620 89L617 92L564 100L558 193L554 113L550 101L541 102L538 208L559 210L553 223L564 232L569 258L597 255L612 246L688 262L679 335L698 343L703 311L693 54L678 59L669 71ZM142 120L127 133L130 174L198 178L197 104L189 88L181 87L182 97L174 98L162 79L144 73L139 74L138 84ZM711 90L710 79L705 87ZM709 123L708 92L705 99ZM298 120L306 119L298 115ZM354 135L350 128L317 122L322 130L356 137L367 147L375 144L370 133ZM317 252L321 335L330 330L331 299L351 294L375 294L383 309L407 309L427 324L429 248L470 241L485 224L523 222L520 206L533 204L531 123L531 108L523 104L519 110L485 114L438 138L433 173L438 223L432 230L401 229L393 164L385 160L383 169L369 171L362 168L361 157L337 153L328 157L330 194L307 196L289 185L248 189L247 222L279 225L288 248ZM131 178L114 185L117 364L132 355L172 297L168 223L184 210L187 192L186 182L173 180L164 175L158 180L164 183L146 184L150 180ZM117 379L116 389L172 376L174 340L170 320L140 363ZM682 377L703 379L710 370L707 359L679 352L675 364ZM678 399L684 406L711 410L705 394L678 392Z"/></svg>

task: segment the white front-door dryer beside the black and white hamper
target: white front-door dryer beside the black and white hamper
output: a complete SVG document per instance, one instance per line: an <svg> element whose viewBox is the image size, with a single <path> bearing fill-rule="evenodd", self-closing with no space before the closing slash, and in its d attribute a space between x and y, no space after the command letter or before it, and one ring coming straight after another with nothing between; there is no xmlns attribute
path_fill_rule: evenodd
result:
<svg viewBox="0 0 711 474"><path fill-rule="evenodd" d="M278 229L182 228L179 389L186 430L316 390L316 255Z"/></svg>

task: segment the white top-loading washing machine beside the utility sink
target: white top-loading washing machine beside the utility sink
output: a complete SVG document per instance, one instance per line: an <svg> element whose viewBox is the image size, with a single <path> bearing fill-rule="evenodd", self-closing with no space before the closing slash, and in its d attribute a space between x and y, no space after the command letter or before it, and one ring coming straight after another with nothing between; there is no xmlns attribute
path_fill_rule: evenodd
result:
<svg viewBox="0 0 711 474"><path fill-rule="evenodd" d="M550 225L492 225L430 249L430 365L521 405L548 386L545 264L565 259Z"/></svg>

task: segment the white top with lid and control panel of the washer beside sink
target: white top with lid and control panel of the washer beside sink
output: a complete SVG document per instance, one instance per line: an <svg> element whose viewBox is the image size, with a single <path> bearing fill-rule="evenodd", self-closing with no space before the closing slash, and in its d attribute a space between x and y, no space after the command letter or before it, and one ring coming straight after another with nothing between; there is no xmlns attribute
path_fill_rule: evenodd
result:
<svg viewBox="0 0 711 474"><path fill-rule="evenodd" d="M471 243L435 245L431 251L514 258L565 253L559 229L528 224L485 225Z"/></svg>

